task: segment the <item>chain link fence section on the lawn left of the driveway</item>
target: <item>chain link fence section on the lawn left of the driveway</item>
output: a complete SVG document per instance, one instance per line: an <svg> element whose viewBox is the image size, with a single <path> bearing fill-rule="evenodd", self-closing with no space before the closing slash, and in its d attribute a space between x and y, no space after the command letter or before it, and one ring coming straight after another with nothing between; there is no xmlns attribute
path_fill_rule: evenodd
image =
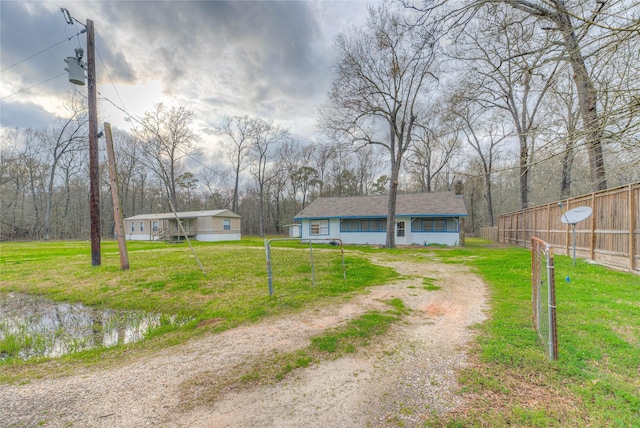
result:
<svg viewBox="0 0 640 428"><path fill-rule="evenodd" d="M269 295L335 286L347 279L339 239L265 239Z"/></svg>

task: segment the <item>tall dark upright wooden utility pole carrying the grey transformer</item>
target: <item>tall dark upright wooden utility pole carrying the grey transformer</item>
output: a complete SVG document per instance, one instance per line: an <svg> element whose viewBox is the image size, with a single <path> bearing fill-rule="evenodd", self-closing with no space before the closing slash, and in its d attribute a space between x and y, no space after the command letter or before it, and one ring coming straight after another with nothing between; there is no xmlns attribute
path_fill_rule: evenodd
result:
<svg viewBox="0 0 640 428"><path fill-rule="evenodd" d="M89 207L91 210L91 264L100 266L100 165L98 158L98 106L96 101L96 48L93 21L87 19L87 83L89 97Z"/></svg>

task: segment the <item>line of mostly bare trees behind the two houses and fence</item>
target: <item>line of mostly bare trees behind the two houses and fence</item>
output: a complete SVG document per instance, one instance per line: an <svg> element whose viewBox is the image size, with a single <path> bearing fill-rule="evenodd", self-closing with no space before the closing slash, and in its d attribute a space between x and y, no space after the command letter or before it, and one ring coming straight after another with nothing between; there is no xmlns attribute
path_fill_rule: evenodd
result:
<svg viewBox="0 0 640 428"><path fill-rule="evenodd" d="M399 192L463 181L474 233L496 213L637 181L639 12L626 0L372 6L335 40L310 141L249 115L202 135L193 112L164 104L116 129L122 212L227 208L243 233L279 234L317 197L387 194L392 228ZM0 239L89 236L86 108L68 98L65 119L2 132Z"/></svg>

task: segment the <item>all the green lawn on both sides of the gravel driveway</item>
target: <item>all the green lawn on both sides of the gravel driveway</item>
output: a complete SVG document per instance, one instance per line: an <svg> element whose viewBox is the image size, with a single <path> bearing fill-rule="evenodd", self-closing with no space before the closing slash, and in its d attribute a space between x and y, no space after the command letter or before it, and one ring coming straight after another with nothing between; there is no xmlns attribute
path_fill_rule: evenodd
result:
<svg viewBox="0 0 640 428"><path fill-rule="evenodd" d="M318 252L322 262L315 266L315 287L305 279L309 268L296 267L291 261L295 258L287 259L290 269L279 273L276 294L269 297L265 251L259 239L195 243L206 276L185 244L130 242L128 248L131 270L123 272L113 242L103 242L100 267L91 266L87 242L1 243L0 291L180 314L193 317L193 322L167 327L139 344L81 353L55 364L3 363L0 380L121 361L123 356L181 343L206 331L197 327L206 320L217 320L207 328L224 329L344 301L352 293L397 276L371 264L370 255L437 252L441 261L468 265L485 279L491 309L489 319L476 327L472 364L459 375L468 405L455 413L433 415L425 426L639 426L640 276L582 260L574 267L570 257L556 255L559 359L549 361L532 328L530 252L526 249L474 239L456 249L353 247L345 250L344 281L339 258L327 247ZM433 286L430 279L425 279L424 286ZM385 321L375 317L380 318L375 318L376 323ZM350 344L338 344L340 334L327 332L301 351L304 355L287 356L279 373L290 366L304 367L320 358L318 352L352 349Z"/></svg>

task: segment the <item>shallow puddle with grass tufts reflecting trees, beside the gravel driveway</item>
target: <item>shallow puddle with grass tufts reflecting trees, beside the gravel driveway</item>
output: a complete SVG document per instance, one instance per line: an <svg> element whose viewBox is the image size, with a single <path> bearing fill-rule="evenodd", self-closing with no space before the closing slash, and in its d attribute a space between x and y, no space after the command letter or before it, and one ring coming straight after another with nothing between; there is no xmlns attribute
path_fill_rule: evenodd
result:
<svg viewBox="0 0 640 428"><path fill-rule="evenodd" d="M167 322L175 319L141 311L97 310L28 294L0 294L0 361L55 358L132 343Z"/></svg>

